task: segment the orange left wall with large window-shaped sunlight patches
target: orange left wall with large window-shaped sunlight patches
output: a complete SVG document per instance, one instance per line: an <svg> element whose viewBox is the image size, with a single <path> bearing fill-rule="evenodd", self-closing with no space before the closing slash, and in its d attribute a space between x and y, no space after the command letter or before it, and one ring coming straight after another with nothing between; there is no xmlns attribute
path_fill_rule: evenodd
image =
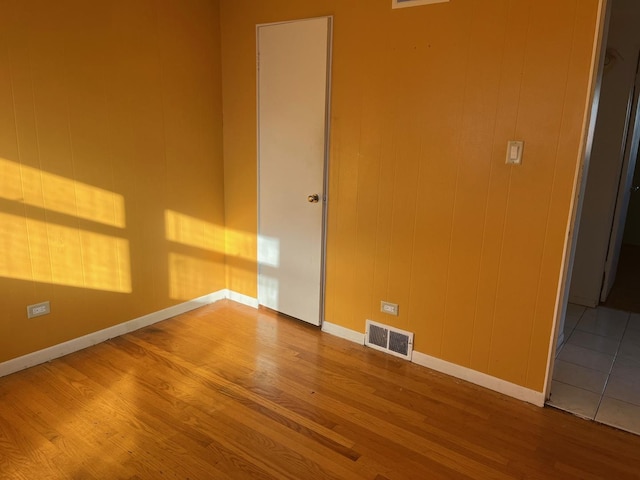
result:
<svg viewBox="0 0 640 480"><path fill-rule="evenodd" d="M0 10L0 362L225 288L218 2Z"/></svg>

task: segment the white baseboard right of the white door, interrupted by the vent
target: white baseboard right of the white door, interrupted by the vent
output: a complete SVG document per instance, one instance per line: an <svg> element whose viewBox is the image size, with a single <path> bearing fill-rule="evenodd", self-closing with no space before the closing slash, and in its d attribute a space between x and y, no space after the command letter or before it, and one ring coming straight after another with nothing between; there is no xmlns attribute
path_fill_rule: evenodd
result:
<svg viewBox="0 0 640 480"><path fill-rule="evenodd" d="M329 322L324 322L322 324L322 331L344 338L345 340L350 340L360 345L364 345L364 333L356 332ZM467 382L488 388L489 390L494 390L504 395L508 395L509 397L517 398L518 400L532 403L539 407L544 406L544 393L536 392L535 390L507 382L500 378L492 377L486 373L478 372L467 367L456 365L455 363L431 357L424 353L416 352L415 350L413 351L411 361L417 365L451 375L452 377L456 377L461 380L466 380Z"/></svg>

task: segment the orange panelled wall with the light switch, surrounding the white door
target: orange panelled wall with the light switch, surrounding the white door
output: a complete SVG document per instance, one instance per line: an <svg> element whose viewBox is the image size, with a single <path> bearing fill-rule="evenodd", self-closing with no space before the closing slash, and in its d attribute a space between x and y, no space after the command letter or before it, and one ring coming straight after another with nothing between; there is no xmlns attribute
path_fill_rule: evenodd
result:
<svg viewBox="0 0 640 480"><path fill-rule="evenodd" d="M390 3L222 0L228 286L256 296L255 25L334 15L326 320L542 391L599 2Z"/></svg>

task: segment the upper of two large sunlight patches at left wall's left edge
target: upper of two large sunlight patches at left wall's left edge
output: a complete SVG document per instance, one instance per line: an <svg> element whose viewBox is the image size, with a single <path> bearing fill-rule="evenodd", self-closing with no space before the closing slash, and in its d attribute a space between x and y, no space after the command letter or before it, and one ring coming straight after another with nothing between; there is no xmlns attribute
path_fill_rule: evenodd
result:
<svg viewBox="0 0 640 480"><path fill-rule="evenodd" d="M117 193L0 158L0 198L125 228Z"/></svg>

